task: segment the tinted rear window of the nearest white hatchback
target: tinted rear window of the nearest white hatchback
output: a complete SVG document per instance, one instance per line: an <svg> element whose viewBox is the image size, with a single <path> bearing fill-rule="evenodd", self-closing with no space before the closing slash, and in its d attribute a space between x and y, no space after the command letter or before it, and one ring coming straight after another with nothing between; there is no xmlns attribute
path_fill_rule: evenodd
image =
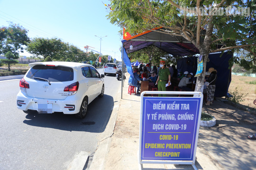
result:
<svg viewBox="0 0 256 170"><path fill-rule="evenodd" d="M73 68L69 67L36 65L29 70L27 77L44 78L50 82L65 82L72 81L74 79L74 73ZM37 80L44 81L40 79Z"/></svg>

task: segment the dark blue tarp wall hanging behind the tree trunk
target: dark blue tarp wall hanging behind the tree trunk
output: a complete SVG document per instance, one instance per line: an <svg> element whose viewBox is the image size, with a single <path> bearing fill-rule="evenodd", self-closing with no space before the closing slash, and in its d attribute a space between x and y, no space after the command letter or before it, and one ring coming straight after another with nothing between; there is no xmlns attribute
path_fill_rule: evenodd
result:
<svg viewBox="0 0 256 170"><path fill-rule="evenodd" d="M229 59L233 56L232 52L224 52L221 57L221 53L209 54L210 61L206 64L206 71L209 68L215 68L217 70L216 89L214 96L222 97L226 96L229 90L229 84L231 82L231 69L229 69ZM177 69L178 73L181 71L188 71L195 75L197 70L197 58L198 57L187 57L178 59Z"/></svg>

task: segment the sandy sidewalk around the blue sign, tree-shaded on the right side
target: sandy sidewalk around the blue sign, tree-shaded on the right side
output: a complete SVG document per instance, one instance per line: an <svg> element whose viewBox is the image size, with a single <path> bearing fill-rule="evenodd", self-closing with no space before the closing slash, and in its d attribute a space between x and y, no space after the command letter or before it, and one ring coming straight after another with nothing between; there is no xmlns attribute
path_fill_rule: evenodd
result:
<svg viewBox="0 0 256 170"><path fill-rule="evenodd" d="M117 110L113 135L99 144L90 170L138 170L140 94L128 94ZM202 110L216 118L216 126L200 127L195 166L198 170L256 170L256 115L214 101ZM142 170L193 170L192 165L143 164Z"/></svg>

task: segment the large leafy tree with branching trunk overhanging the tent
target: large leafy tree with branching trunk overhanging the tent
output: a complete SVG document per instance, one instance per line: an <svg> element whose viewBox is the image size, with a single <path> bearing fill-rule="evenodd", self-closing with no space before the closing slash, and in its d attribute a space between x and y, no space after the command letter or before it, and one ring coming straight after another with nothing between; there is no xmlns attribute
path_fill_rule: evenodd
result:
<svg viewBox="0 0 256 170"><path fill-rule="evenodd" d="M251 51L255 49L256 5L253 0L110 1L110 22L121 29L125 27L130 34L162 27L159 32L183 37L199 50L203 59L203 71L197 78L195 91L203 91L206 62L210 52L234 51L236 48L247 48ZM238 7L243 8L243 11L229 15L230 6L235 10ZM207 11L202 15L200 9L204 8ZM189 9L195 9L196 12ZM224 12L221 13L222 11Z"/></svg>

